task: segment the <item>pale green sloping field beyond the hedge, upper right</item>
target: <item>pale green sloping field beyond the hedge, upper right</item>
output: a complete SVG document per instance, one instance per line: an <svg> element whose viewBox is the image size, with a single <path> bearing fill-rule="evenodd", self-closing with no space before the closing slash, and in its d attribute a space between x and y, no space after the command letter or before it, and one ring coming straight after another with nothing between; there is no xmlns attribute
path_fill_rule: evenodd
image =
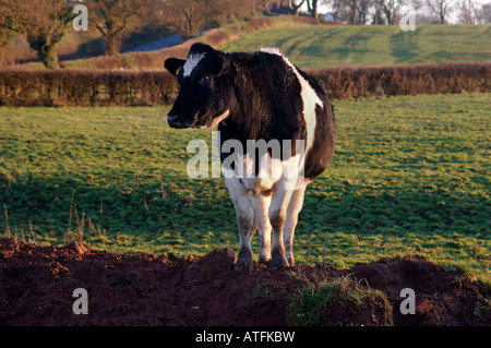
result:
<svg viewBox="0 0 491 348"><path fill-rule="evenodd" d="M246 34L221 47L255 51L278 47L301 68L491 60L490 25L280 26Z"/></svg>

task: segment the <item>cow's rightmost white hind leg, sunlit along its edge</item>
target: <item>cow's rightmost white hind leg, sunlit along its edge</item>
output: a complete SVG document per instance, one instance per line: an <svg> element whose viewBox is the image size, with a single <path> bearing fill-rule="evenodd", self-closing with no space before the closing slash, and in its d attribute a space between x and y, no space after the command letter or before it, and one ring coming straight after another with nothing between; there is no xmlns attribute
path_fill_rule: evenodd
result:
<svg viewBox="0 0 491 348"><path fill-rule="evenodd" d="M290 202L288 203L285 225L283 227L285 252L287 261L290 266L295 266L294 236L295 236L295 228L297 227L298 215L302 209L306 188L307 185L303 185L302 188L295 190L292 192Z"/></svg>

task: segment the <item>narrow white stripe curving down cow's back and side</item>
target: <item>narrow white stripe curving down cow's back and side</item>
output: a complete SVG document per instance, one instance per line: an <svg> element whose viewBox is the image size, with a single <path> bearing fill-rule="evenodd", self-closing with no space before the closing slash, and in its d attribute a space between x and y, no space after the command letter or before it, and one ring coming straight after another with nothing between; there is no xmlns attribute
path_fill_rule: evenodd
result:
<svg viewBox="0 0 491 348"><path fill-rule="evenodd" d="M309 82L303 79L303 76L298 72L297 68L295 68L294 63L285 57L278 48L276 47L266 47L261 48L261 52L280 56L283 60L287 63L288 67L291 68L301 86L301 97L303 100L303 118L307 123L307 146L306 153L310 149L313 144L313 137L315 132L315 105L319 105L321 108L324 107L322 100L319 98L318 94L310 86Z"/></svg>

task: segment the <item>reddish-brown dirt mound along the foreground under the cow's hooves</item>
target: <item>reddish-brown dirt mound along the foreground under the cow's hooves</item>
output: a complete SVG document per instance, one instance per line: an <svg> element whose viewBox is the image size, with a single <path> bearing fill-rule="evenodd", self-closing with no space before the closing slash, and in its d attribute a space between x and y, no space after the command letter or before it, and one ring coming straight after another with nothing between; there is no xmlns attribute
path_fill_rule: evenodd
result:
<svg viewBox="0 0 491 348"><path fill-rule="evenodd" d="M233 262L229 248L195 260L0 239L0 325L288 325L299 289L348 275L384 291L391 311L374 304L361 313L342 301L326 308L320 325L491 325L489 293L417 255L350 269L255 264L249 272L232 271ZM77 288L88 295L86 315L73 312ZM415 314L400 313L404 288L416 293Z"/></svg>

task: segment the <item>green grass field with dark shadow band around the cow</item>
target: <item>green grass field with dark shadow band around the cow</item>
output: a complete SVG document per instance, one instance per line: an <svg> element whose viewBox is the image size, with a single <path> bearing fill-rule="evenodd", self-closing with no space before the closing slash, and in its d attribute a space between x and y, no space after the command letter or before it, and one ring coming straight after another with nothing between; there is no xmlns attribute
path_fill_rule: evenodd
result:
<svg viewBox="0 0 491 348"><path fill-rule="evenodd" d="M420 253L491 281L491 94L333 104L338 144L308 189L298 262ZM211 131L169 129L168 109L0 108L1 236L180 256L237 250L223 178L187 175L188 142L209 144Z"/></svg>

